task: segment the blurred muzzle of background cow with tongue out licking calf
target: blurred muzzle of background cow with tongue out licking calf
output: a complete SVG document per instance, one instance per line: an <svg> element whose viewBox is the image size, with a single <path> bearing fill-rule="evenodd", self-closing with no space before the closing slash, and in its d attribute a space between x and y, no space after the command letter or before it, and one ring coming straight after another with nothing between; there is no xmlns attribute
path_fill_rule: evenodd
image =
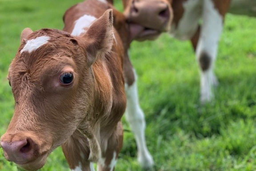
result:
<svg viewBox="0 0 256 171"><path fill-rule="evenodd" d="M171 0L123 0L124 15L136 40L155 40L170 30Z"/></svg>

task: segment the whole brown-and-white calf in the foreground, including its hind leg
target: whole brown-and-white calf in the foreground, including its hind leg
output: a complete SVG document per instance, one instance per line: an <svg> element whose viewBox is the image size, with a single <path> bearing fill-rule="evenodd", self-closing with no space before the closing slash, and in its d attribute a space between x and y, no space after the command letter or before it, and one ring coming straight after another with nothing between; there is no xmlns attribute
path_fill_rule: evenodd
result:
<svg viewBox="0 0 256 171"><path fill-rule="evenodd" d="M135 132L138 159L142 167L152 167L153 159L145 142L144 114L138 103L136 76L127 52L129 44L136 34L130 35L124 15L113 8L113 24L121 37L119 38L114 31L112 51L108 52L105 59L102 56L107 49L102 47L102 51L99 51L97 46L93 45L95 43L99 46L100 43L103 45L109 43L109 47L112 45L111 42L105 40L95 42L100 37L91 34L95 30L104 35L106 31L100 23L108 24L104 23L104 19L97 20L97 18L109 8L113 8L113 6L107 1L87 0L68 9L64 15L64 31L70 32L71 35L48 29L33 33L26 29L22 33L20 49L9 70L10 84L14 95L17 96L15 113L7 132L1 137L1 146L8 160L14 161L28 170L36 170L44 165L48 154L55 147L62 145L69 166L74 171L94 170L91 161L98 161L99 170L113 170L122 142L122 129L119 121L124 107L124 99L123 88L118 87L123 82L121 81L116 86L117 79L120 78L112 78L112 76L116 74L120 77L120 74L124 73L127 97L126 118L132 131ZM104 14L104 18L108 18L106 14ZM44 36L40 36L40 34ZM84 36L81 37L80 35L83 34ZM54 36L54 39L51 36ZM63 36L64 38L62 38ZM86 47L80 47L83 39L89 39L87 43L83 44ZM83 48L87 52L77 54ZM38 54L39 52L43 54ZM115 52L118 56L113 56L113 59L116 57L117 61L109 57ZM94 59L95 56L101 57ZM118 68L120 56L122 57L120 60L124 60L121 61L124 64L123 71ZM87 60L87 57L90 64L86 64L84 61ZM23 58L26 59L26 63L23 62ZM107 64L102 64L101 60ZM23 64L23 68L19 68L20 63ZM62 63L65 66L71 66L62 69L64 67ZM84 68L81 68L82 66ZM22 72L19 72L19 69L22 69ZM86 69L85 73L84 69ZM102 69L104 69L104 73L101 73ZM91 76L87 75L87 71L92 72L94 79L87 79L87 76ZM84 74L86 75L84 76ZM19 80L20 76L22 78ZM67 79L66 81L72 79L75 81L68 86L58 83L58 79L64 78ZM88 80L85 86L82 79ZM113 82L109 83L108 79ZM92 83L95 84L95 87L89 85L92 80L96 81ZM100 83L97 80L100 80ZM111 86L110 95L108 94L109 86ZM89 89L87 90L87 88ZM19 94L18 91L24 91L24 94L16 95ZM70 91L70 93L66 93L66 91ZM90 91L95 92L91 93ZM49 95L48 92L50 92ZM112 103L112 111L106 111L107 114L102 108L111 107L111 105L104 106L105 98L109 98L108 103ZM72 103L69 102L69 99L72 99ZM95 115L93 112L96 112ZM119 115L113 115L113 112L118 112ZM115 116L115 118L111 116ZM16 124L17 121L20 123ZM90 125L92 122L93 125ZM115 124L117 124L116 127ZM115 130L116 133L113 133ZM96 140L93 141L93 137ZM115 140L115 138L117 139ZM92 147L90 160L88 160L90 151L88 142L91 144L89 147ZM97 147L99 148L97 149ZM96 153L101 151L101 154L96 155L93 151Z"/></svg>

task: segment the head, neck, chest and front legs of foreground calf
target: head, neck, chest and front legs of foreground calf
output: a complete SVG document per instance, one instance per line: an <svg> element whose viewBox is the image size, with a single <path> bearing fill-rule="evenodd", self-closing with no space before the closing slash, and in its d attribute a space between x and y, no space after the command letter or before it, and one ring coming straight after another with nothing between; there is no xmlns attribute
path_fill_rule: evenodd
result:
<svg viewBox="0 0 256 171"><path fill-rule="evenodd" d="M100 15L98 15L100 16ZM26 28L9 68L15 110L4 156L35 171L62 145L72 170L112 171L123 142L124 49L112 10L72 36Z"/></svg>

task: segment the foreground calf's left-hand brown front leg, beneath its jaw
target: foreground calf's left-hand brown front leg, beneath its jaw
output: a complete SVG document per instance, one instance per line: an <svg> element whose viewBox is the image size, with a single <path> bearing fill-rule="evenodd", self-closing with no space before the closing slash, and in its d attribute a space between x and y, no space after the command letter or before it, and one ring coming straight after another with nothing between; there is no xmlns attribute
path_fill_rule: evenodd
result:
<svg viewBox="0 0 256 171"><path fill-rule="evenodd" d="M79 131L75 131L61 147L71 171L94 171L93 163L88 161L88 140Z"/></svg>

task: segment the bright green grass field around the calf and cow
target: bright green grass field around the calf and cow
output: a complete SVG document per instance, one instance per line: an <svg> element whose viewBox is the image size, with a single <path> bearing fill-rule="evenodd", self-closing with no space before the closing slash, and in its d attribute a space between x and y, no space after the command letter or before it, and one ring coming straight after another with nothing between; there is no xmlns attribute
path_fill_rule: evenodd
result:
<svg viewBox="0 0 256 171"><path fill-rule="evenodd" d="M14 108L6 76L20 32L62 29L65 10L79 1L0 0L0 135ZM204 106L189 42L163 34L154 42L133 42L130 54L156 171L256 171L256 18L226 16L215 69L220 84L215 100ZM140 171L133 135L124 135L116 171ZM0 150L0 171L16 170ZM68 170L57 148L40 171Z"/></svg>

